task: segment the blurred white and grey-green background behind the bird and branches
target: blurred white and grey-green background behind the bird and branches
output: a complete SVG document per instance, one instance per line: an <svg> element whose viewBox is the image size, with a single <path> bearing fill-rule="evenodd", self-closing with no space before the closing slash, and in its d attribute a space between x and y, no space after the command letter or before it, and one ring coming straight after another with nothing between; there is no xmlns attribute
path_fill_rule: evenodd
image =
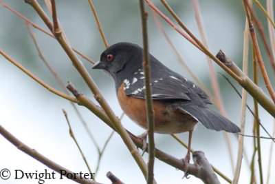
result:
<svg viewBox="0 0 275 184"><path fill-rule="evenodd" d="M15 0L3 0L3 2L23 14L32 22L48 30L43 21L41 21L33 8L28 4ZM41 6L49 15L44 1L39 1L39 3L41 3ZM120 41L129 41L142 45L139 1L105 0L93 1L93 3L109 45ZM159 1L153 1L153 3L168 15ZM168 1L168 3L175 12L177 12L180 19L186 23L192 33L199 38L192 1L177 0ZM241 67L243 57L243 30L245 25L245 14L241 1L210 0L199 1L199 3L210 51L216 54L219 49L223 50ZM261 3L265 5L265 1L261 1ZM97 61L101 52L104 50L104 44L88 2L73 0L67 0L66 2L56 1L56 6L58 19L65 30L69 42L83 52L83 54ZM151 54L172 70L191 79L186 70L179 64L173 50L170 49L162 33L157 28L151 10L149 10L148 7L146 7L146 9L149 13L148 37ZM266 18L258 9L259 8L256 8L257 15L259 19L261 19L268 36ZM170 17L170 15L168 15L168 17ZM166 22L162 21L162 23L168 37L170 37L175 44L181 57L208 89L211 90L206 57L177 34ZM47 70L45 64L39 58L34 42L28 30L25 28L25 22L6 8L3 8L3 6L0 6L0 25L0 48L40 79L52 85L52 87L61 90L50 71ZM58 42L39 30L32 28L32 31L36 34L43 54L45 54L46 59L52 64L59 76L61 76L63 83L66 84L67 81L71 81L79 92L83 92L94 101L93 94L91 94L78 72L76 72L72 62ZM79 57L79 59L83 61L83 64L87 70L89 70L89 73L96 81L115 114L120 116L122 110L118 105L114 83L111 77L102 71L91 70L91 63L88 63L81 57ZM265 51L263 51L263 59L266 61L266 68L269 69L270 63L267 61ZM252 63L250 63L250 76L252 76L251 66ZM214 67L217 69L217 72L219 71L225 74L217 64L214 64ZM274 79L274 72L271 72L271 68L269 73L270 79ZM225 75L228 76L228 74ZM241 100L225 79L219 74L217 74L217 76L219 77L223 103L226 112L228 112L228 117L236 123L236 125L239 125ZM234 83L233 79L230 79L230 81ZM17 136L23 143L63 167L74 172L88 172L74 141L69 136L68 125L62 112L62 109L64 109L67 111L76 139L85 153L91 170L93 172L96 170L98 160L96 147L91 139L89 139L85 128L68 101L45 90L45 88L30 79L30 77L2 56L0 57L0 83L0 124L5 127L5 129L14 134L14 136ZM234 84L239 92L241 92L240 86L236 83ZM274 80L272 84L274 84ZM263 83L261 83L261 86L263 90L265 90ZM253 108L251 96L248 98L248 104ZM102 147L111 134L111 129L86 108L78 106L78 109L87 122L87 125L89 125L89 129L98 142L98 145ZM247 113L247 115L245 134L251 135L253 119L250 113ZM272 116L267 114L262 108L260 108L260 116L261 122L267 130L272 133L274 123ZM127 130L134 134L138 135L144 132L144 130L131 122L126 116L122 119L122 123ZM178 136L187 143L187 133L179 134ZM237 139L232 134L229 136L232 141L235 165L238 150ZM266 136L265 133L263 133L263 136ZM183 158L186 154L186 149L179 145L170 135L155 134L155 143L157 148L177 158ZM263 151L263 177L264 181L266 181L271 141L262 139L261 143ZM23 170L24 172L43 172L47 169L49 172L52 172L52 170L48 169L45 165L19 151L17 147L14 147L14 145L5 140L3 136L0 136L0 145L0 170L2 168L8 168L9 170ZM198 125L193 133L192 148L205 152L208 161L210 161L212 165L217 167L229 178L232 178L232 166L230 164L228 146L225 143L223 132L214 132L207 130L202 125ZM252 138L245 138L245 152L250 161L253 152ZM146 161L147 156L147 154L144 154ZM272 158L273 168L275 167L274 156L275 154L273 154ZM258 174L258 165L255 166L255 170ZM108 171L113 172L113 174L118 176L124 183L145 183L142 173L118 134L114 134L107 145L100 164L100 170L96 173L97 181L100 183L111 183L105 176ZM274 172L274 170L272 172ZM195 176L191 176L188 180L186 180L186 178L181 179L182 176L184 176L183 172L156 159L155 178L158 183L201 183ZM270 183L275 183L275 176L270 177ZM256 175L256 179L259 180L259 175ZM27 179L10 179L4 182L1 181L0 183L26 182L37 183L35 180ZM249 182L250 168L248 163L243 161L239 183ZM45 183L74 182L68 180L47 180ZM225 183L225 181L221 179L221 183Z"/></svg>

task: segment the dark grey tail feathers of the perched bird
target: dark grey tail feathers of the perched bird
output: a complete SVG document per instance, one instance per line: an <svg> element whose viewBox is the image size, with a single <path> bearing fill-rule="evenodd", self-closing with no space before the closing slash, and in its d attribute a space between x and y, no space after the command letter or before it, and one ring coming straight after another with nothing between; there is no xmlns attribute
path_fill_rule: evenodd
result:
<svg viewBox="0 0 275 184"><path fill-rule="evenodd" d="M221 114L214 110L199 108L195 105L181 106L179 110L187 112L201 122L205 127L212 130L225 130L226 132L232 133L241 132L241 129L237 125L228 119L225 119L225 117L221 116Z"/></svg>

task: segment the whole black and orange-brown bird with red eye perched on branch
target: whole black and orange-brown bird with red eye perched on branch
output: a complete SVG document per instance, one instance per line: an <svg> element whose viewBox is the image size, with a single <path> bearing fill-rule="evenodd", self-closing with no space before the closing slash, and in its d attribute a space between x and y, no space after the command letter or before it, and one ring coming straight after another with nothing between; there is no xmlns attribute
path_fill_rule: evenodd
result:
<svg viewBox="0 0 275 184"><path fill-rule="evenodd" d="M142 52L142 48L133 43L116 43L102 52L100 61L93 68L103 69L111 74L122 110L146 129ZM201 88L166 68L151 54L149 58L155 132L189 132L185 161L190 161L192 130L197 122L212 130L232 133L241 131L234 123L208 108L211 101Z"/></svg>

